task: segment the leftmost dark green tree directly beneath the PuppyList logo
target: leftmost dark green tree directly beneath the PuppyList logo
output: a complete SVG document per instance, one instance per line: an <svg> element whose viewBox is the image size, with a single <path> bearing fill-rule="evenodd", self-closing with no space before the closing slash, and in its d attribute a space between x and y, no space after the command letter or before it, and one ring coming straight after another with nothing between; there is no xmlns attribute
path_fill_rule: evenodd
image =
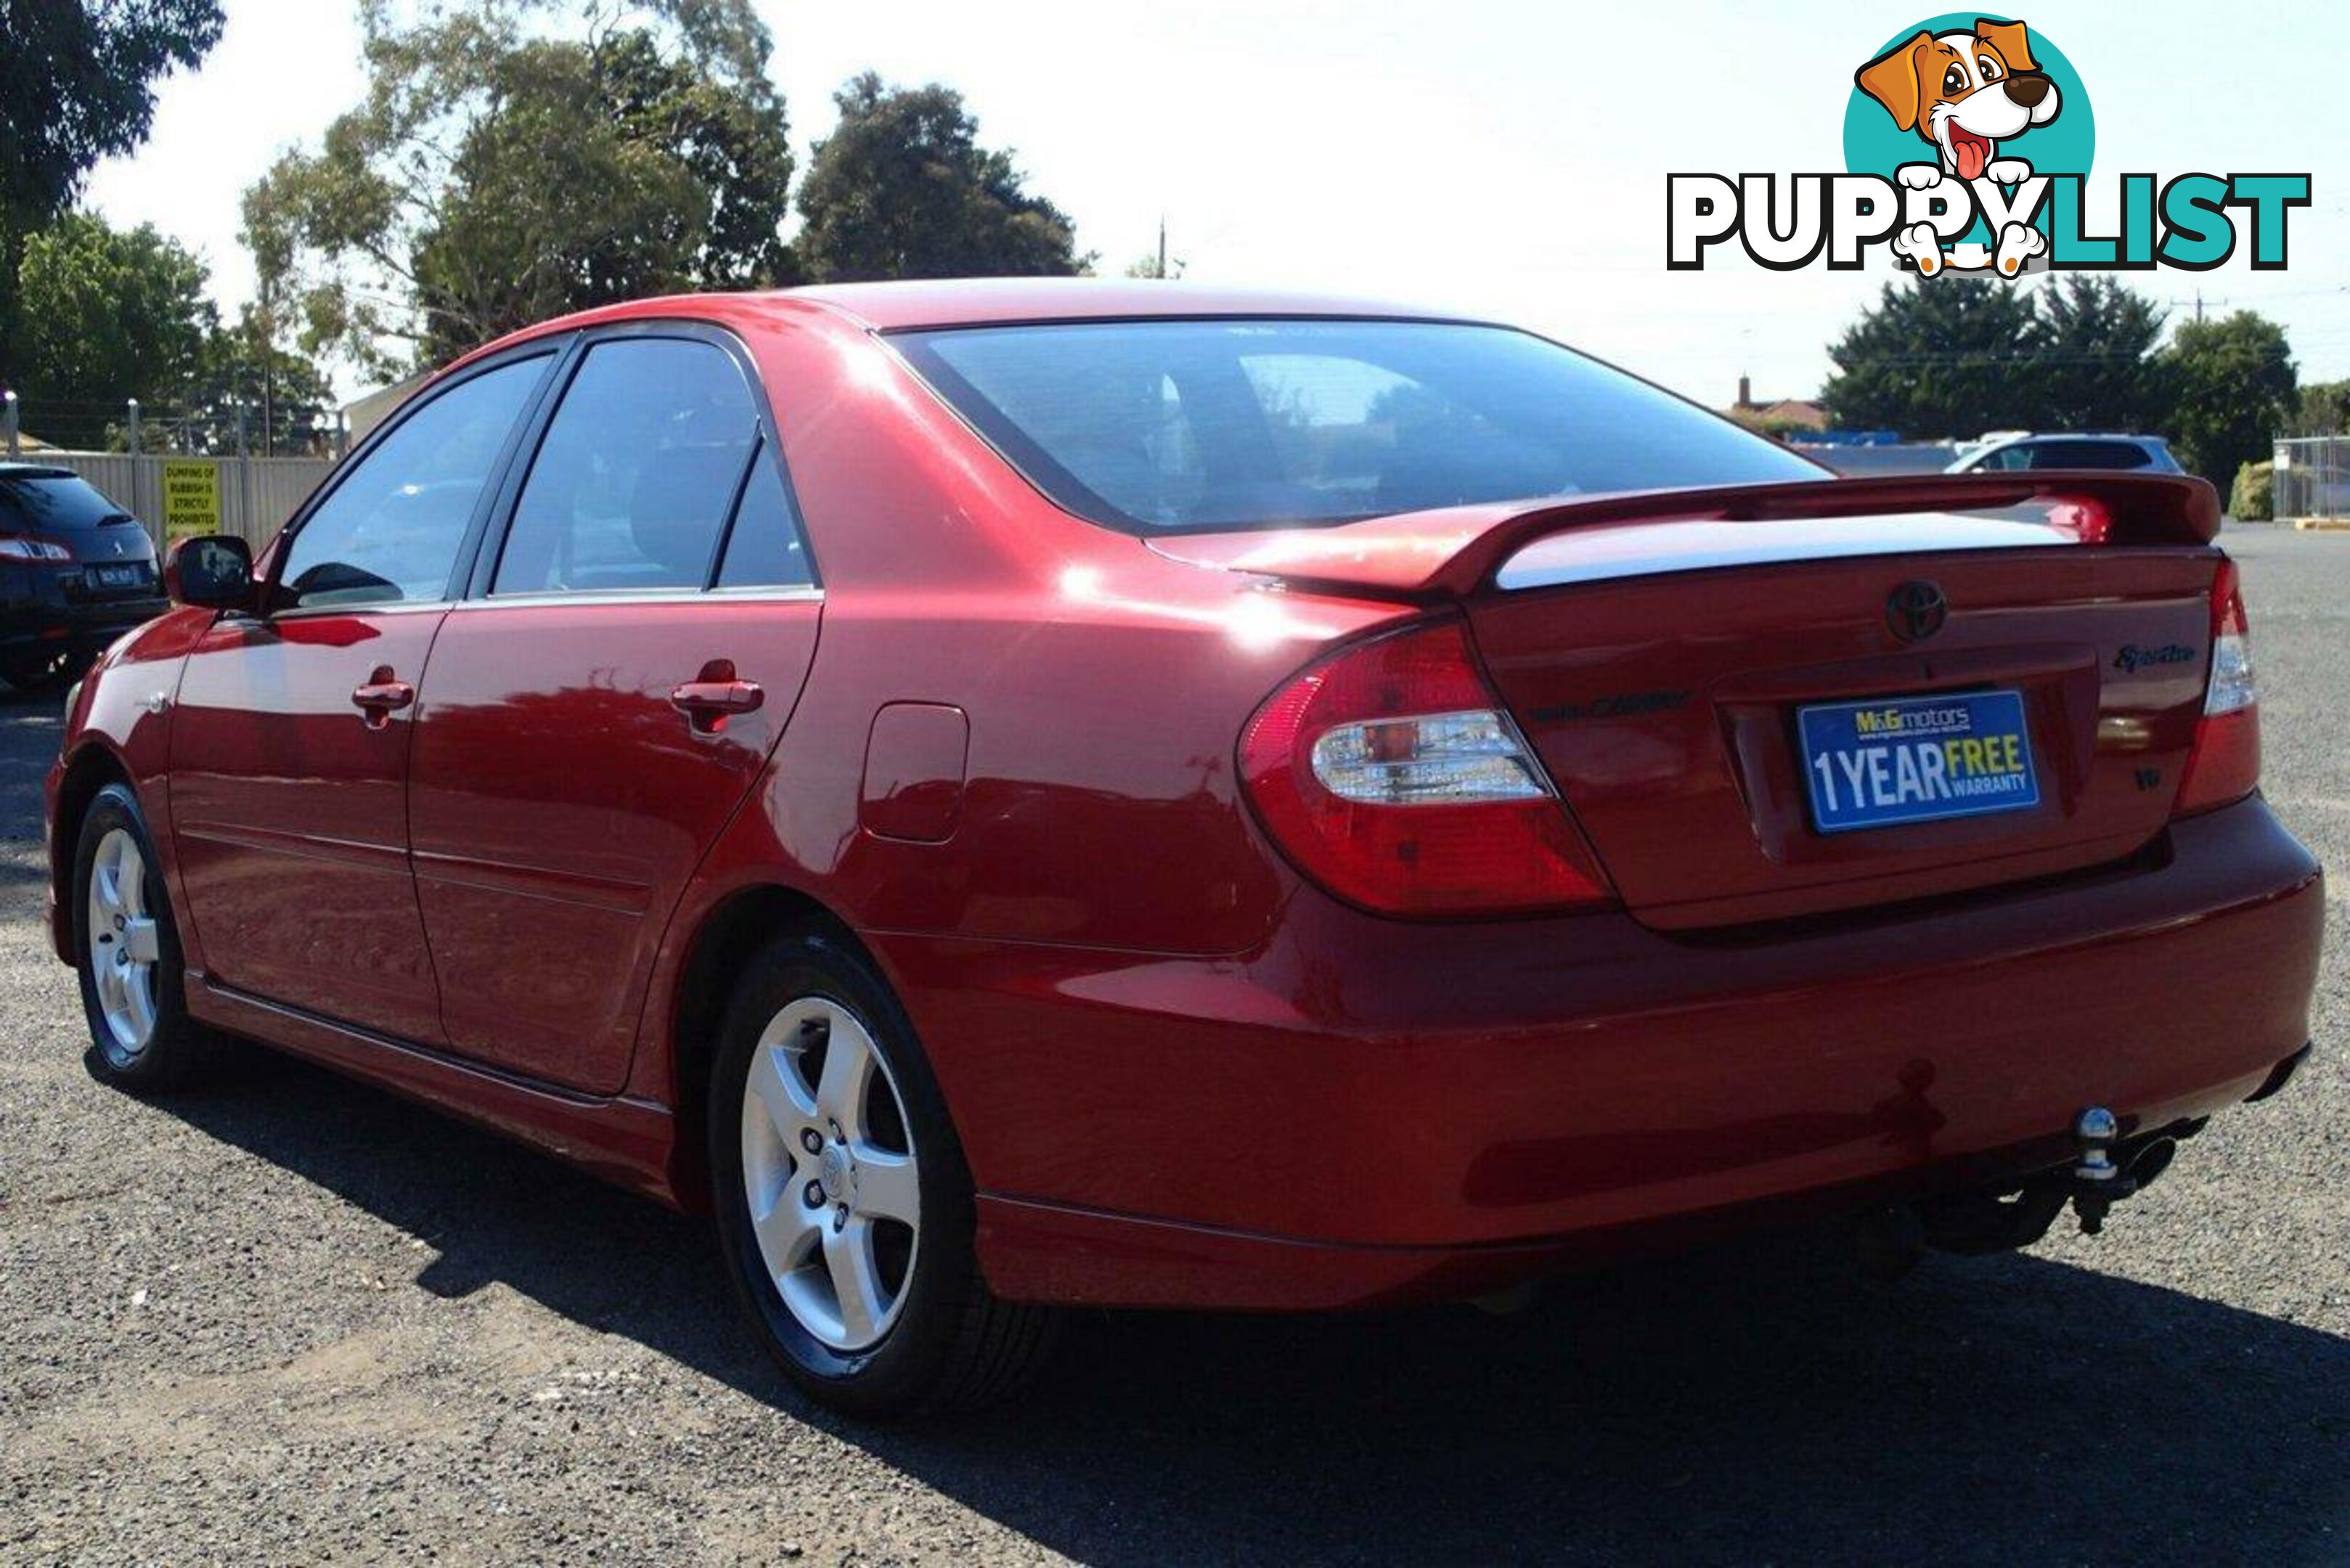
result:
<svg viewBox="0 0 2350 1568"><path fill-rule="evenodd" d="M2044 423L2044 322L2021 289L1967 277L1885 284L1828 348L1838 425L1946 440Z"/></svg>

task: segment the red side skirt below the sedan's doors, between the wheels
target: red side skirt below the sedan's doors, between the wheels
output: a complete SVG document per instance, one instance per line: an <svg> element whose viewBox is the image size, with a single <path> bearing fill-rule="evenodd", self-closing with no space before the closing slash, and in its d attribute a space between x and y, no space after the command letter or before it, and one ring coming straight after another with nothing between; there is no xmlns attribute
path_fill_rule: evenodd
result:
<svg viewBox="0 0 2350 1568"><path fill-rule="evenodd" d="M653 1100L597 1098L501 1072L390 1034L320 1018L188 973L188 1011L216 1030L258 1039L303 1060L503 1133L642 1192L670 1208L700 1208L670 1180L674 1119Z"/></svg>

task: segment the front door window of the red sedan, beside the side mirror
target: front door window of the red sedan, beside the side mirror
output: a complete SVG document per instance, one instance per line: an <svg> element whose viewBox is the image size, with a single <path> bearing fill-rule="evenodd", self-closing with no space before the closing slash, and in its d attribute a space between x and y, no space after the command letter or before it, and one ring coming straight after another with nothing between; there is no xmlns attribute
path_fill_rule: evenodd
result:
<svg viewBox="0 0 2350 1568"><path fill-rule="evenodd" d="M548 355L439 393L400 421L320 503L277 571L303 604L432 602L449 592L475 501Z"/></svg>

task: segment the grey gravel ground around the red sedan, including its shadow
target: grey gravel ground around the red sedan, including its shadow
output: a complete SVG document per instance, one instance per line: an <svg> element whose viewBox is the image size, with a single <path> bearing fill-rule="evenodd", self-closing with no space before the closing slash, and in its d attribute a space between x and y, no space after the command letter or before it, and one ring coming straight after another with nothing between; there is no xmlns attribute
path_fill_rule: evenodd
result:
<svg viewBox="0 0 2350 1568"><path fill-rule="evenodd" d="M2230 543L2270 795L2350 889L2350 538ZM1018 1408L865 1432L766 1371L686 1220L294 1063L92 1084L40 936L52 708L0 703L0 1559L2350 1556L2350 1053L2094 1241L1086 1319ZM2341 940L2322 985L2341 1041Z"/></svg>

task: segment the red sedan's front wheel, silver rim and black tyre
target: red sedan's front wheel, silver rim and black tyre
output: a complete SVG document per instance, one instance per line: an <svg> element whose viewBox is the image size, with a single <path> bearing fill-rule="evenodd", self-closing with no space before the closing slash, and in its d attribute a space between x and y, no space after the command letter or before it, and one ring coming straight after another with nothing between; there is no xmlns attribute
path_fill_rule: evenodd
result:
<svg viewBox="0 0 2350 1568"><path fill-rule="evenodd" d="M106 785L73 851L73 950L89 1053L101 1084L176 1088L214 1063L214 1039L188 1016L186 969L162 860L129 785Z"/></svg>

